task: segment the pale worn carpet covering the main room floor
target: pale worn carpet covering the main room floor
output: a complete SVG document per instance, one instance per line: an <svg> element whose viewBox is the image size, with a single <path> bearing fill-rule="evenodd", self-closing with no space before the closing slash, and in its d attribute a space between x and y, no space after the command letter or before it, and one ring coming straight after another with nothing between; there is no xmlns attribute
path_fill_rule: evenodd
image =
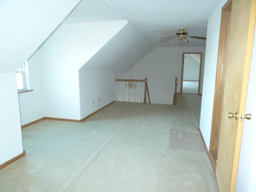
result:
<svg viewBox="0 0 256 192"><path fill-rule="evenodd" d="M218 192L198 132L201 97L116 102L82 123L22 129L26 156L0 170L1 192Z"/></svg>

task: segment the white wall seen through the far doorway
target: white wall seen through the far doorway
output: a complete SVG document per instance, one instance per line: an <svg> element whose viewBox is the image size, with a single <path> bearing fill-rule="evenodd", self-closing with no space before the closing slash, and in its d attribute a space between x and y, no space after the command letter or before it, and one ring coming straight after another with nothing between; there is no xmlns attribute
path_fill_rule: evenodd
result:
<svg viewBox="0 0 256 192"><path fill-rule="evenodd" d="M199 80L200 63L186 55L184 58L183 80Z"/></svg>

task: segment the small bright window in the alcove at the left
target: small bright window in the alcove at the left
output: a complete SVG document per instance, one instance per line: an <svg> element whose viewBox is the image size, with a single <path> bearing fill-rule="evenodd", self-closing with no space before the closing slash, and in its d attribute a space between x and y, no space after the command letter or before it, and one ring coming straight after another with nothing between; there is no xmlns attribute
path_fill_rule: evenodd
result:
<svg viewBox="0 0 256 192"><path fill-rule="evenodd" d="M22 66L20 66L16 72L16 80L18 91L25 91L29 89L28 84L28 61L26 61Z"/></svg>

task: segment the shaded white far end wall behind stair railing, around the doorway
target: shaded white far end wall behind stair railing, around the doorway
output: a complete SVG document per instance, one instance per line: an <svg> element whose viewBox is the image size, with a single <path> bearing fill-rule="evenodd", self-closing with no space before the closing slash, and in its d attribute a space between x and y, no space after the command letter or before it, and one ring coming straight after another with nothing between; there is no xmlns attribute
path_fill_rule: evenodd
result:
<svg viewBox="0 0 256 192"><path fill-rule="evenodd" d="M151 103L172 104L175 76L178 78L177 92L180 92L183 52L202 52L203 68L205 50L202 47L157 47L132 68L133 79L147 78ZM122 76L122 79L127 78L130 79L130 71Z"/></svg>

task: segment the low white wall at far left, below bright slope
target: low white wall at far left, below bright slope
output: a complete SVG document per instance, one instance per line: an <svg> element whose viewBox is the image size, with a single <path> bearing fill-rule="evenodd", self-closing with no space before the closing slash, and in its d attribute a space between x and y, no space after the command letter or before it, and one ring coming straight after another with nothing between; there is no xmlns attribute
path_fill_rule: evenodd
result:
<svg viewBox="0 0 256 192"><path fill-rule="evenodd" d="M15 73L0 74L0 164L23 152Z"/></svg>

